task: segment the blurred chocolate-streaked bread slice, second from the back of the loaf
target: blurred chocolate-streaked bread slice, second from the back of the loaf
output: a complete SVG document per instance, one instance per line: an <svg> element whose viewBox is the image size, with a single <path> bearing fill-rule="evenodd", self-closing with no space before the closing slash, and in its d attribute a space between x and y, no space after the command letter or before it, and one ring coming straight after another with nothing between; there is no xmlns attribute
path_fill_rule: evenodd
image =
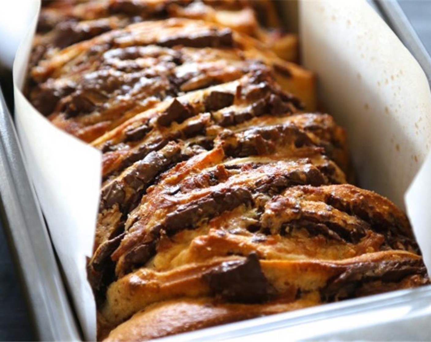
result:
<svg viewBox="0 0 431 342"><path fill-rule="evenodd" d="M283 89L314 109L313 75L255 45L225 27L187 19L134 24L38 62L29 97L56 126L91 142L160 99L240 78L256 64L245 57L282 69Z"/></svg>

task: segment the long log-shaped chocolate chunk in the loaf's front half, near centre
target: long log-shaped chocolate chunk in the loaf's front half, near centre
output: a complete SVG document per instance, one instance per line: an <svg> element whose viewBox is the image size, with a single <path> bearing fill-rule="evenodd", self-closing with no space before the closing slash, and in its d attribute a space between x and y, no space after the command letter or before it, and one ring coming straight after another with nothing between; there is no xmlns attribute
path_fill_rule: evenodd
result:
<svg viewBox="0 0 431 342"><path fill-rule="evenodd" d="M166 215L163 227L169 234L184 228L194 228L200 220L211 218L228 210L234 210L241 204L252 201L252 194L244 188L214 191L211 194L183 204L173 213Z"/></svg>

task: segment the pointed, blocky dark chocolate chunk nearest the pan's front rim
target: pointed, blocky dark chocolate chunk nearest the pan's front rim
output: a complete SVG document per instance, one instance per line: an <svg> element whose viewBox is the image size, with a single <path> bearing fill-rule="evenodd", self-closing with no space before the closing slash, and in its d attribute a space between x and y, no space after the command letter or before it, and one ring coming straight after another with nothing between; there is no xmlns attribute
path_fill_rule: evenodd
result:
<svg viewBox="0 0 431 342"><path fill-rule="evenodd" d="M228 302L262 303L269 300L274 291L260 268L256 253L243 260L223 262L203 279L213 296L221 296Z"/></svg>

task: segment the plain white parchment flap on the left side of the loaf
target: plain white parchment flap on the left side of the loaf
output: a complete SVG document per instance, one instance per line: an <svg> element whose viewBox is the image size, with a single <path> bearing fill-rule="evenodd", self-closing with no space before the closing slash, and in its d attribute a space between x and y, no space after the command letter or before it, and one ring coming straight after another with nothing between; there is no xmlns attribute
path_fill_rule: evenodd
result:
<svg viewBox="0 0 431 342"><path fill-rule="evenodd" d="M66 274L85 339L96 340L96 307L87 282L101 183L102 155L53 126L25 99L22 89L39 6L13 65L15 123L26 168Z"/></svg>

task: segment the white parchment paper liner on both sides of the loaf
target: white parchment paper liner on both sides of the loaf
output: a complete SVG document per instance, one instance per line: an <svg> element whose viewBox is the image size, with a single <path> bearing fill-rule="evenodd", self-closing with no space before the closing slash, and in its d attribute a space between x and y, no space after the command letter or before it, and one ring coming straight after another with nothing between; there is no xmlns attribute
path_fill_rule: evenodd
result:
<svg viewBox="0 0 431 342"><path fill-rule="evenodd" d="M37 14L35 8L13 67L15 120L78 319L85 338L95 340L85 258L94 240L101 154L57 129L22 95ZM431 156L418 173L431 143L431 94L424 72L365 0L303 1L299 16L304 63L319 75L325 108L347 129L362 187L400 206L405 197L431 269Z"/></svg>

